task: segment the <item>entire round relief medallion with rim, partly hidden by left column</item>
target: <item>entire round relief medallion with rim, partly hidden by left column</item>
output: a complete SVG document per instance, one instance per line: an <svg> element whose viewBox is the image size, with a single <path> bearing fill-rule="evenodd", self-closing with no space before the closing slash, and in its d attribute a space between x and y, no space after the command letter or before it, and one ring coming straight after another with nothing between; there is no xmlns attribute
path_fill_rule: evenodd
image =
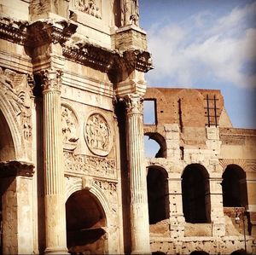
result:
<svg viewBox="0 0 256 255"><path fill-rule="evenodd" d="M63 148L73 150L78 145L79 122L73 109L67 104L61 104L61 131Z"/></svg>

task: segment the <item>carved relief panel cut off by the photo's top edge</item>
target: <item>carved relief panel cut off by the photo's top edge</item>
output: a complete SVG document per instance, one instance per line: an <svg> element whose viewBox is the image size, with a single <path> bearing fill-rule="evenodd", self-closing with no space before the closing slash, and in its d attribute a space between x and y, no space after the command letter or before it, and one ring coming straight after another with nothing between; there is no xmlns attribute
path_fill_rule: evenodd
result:
<svg viewBox="0 0 256 255"><path fill-rule="evenodd" d="M102 19L102 0L73 0L72 7L84 14Z"/></svg>

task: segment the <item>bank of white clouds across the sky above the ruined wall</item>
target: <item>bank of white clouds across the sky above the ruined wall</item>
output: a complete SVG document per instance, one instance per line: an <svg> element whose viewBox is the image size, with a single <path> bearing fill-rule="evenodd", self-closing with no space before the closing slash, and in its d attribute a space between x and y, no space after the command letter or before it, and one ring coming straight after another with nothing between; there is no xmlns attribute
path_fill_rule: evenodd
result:
<svg viewBox="0 0 256 255"><path fill-rule="evenodd" d="M256 73L247 72L246 67L256 63L256 29L247 24L253 15L256 2L218 17L213 26L207 24L210 14L206 11L180 26L152 28L148 48L155 70L148 74L148 83L157 85L165 78L162 85L193 86L208 77L236 86L256 86Z"/></svg>

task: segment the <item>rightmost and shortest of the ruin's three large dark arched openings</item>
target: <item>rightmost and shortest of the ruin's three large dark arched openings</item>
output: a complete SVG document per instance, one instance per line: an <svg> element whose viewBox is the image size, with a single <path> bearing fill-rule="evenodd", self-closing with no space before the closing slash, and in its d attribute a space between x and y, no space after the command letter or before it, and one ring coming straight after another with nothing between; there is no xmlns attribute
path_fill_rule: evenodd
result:
<svg viewBox="0 0 256 255"><path fill-rule="evenodd" d="M239 165L228 165L223 174L224 207L247 207L246 173Z"/></svg>

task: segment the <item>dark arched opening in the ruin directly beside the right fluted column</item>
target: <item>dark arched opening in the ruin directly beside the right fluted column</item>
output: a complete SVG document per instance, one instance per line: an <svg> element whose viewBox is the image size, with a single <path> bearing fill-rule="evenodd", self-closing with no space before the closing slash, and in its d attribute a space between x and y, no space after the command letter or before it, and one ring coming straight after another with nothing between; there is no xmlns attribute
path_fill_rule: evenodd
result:
<svg viewBox="0 0 256 255"><path fill-rule="evenodd" d="M156 166L148 167L148 216L149 223L169 218L169 190L167 172Z"/></svg>

